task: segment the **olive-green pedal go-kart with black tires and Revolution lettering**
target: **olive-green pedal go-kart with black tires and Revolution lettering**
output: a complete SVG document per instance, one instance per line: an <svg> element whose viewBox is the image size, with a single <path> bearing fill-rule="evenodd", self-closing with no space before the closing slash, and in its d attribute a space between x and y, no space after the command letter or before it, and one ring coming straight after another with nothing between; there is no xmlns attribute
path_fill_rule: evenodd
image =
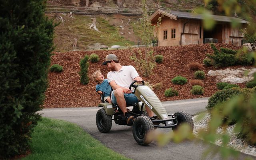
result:
<svg viewBox="0 0 256 160"><path fill-rule="evenodd" d="M129 89L134 88L133 93L141 102L127 104L127 106L133 106L129 113L134 116L135 120L126 124L122 111L115 112L118 106L111 103L100 103L98 107L103 108L98 110L96 114L96 124L100 132L109 132L112 127L112 120L114 120L116 124L132 126L132 134L136 142L140 145L148 145L152 142L152 138L148 138L148 133L156 128L172 128L174 131L180 124L186 122L193 131L194 123L187 112L179 111L174 114L167 114L159 98L150 87L144 85L144 81L142 81L142 85L135 83L136 80L130 84ZM148 117L145 106L148 106L156 116Z"/></svg>

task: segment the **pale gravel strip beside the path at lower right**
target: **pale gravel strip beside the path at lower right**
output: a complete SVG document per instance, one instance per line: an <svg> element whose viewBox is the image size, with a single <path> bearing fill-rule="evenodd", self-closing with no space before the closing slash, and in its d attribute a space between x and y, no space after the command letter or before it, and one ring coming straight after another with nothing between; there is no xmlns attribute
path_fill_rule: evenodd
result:
<svg viewBox="0 0 256 160"><path fill-rule="evenodd" d="M198 136L198 131L200 129L207 128L207 122L210 120L210 114L207 113L204 116L204 118L202 118L202 120L200 120L200 121L196 120L197 117L198 117L198 115L195 115L195 116L192 117L193 121L194 121L194 132L193 133L196 136ZM251 146L246 141L244 141L244 140L242 140L240 138L237 138L236 134L233 133L233 128L234 128L234 125L229 126L227 128L227 133L230 136L230 142L229 142L228 146L234 148L237 151L243 152L245 154L250 154L252 156L256 156L256 146ZM217 130L217 132L221 133L222 129L219 128ZM215 142L215 144L218 145L218 146L221 146L222 145L222 141L221 140L217 140Z"/></svg>

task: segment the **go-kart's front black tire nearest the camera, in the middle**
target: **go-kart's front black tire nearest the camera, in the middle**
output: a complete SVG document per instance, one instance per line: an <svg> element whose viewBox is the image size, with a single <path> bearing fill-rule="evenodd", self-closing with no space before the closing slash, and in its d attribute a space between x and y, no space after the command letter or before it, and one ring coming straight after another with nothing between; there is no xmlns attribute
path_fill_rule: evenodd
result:
<svg viewBox="0 0 256 160"><path fill-rule="evenodd" d="M148 145L152 142L149 136L150 131L154 131L154 125L147 116L138 116L132 125L132 134L136 142L140 145Z"/></svg>

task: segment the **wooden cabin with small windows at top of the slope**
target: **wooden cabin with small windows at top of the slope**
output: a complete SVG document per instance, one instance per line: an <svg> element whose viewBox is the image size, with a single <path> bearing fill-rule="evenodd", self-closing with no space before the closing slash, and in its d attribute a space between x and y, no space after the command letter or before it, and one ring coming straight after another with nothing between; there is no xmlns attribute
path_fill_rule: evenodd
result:
<svg viewBox="0 0 256 160"><path fill-rule="evenodd" d="M157 29L158 46L175 46L202 43L227 43L234 46L242 45L241 28L232 28L233 20L241 23L242 27L248 21L228 16L213 15L216 25L212 30L205 30L203 26L202 14L178 11L156 10L151 16L150 21L153 25L157 24L158 18L162 16L160 27Z"/></svg>

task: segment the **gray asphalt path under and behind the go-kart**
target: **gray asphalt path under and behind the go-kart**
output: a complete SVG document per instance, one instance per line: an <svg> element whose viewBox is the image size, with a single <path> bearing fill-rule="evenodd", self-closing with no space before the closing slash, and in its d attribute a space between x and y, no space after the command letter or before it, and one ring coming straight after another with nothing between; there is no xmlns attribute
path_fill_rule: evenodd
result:
<svg viewBox="0 0 256 160"><path fill-rule="evenodd" d="M194 115L205 111L207 102L208 98L198 98L162 102L162 104L168 114L184 110L190 115ZM51 108L44 109L40 113L42 113L42 116L74 122L84 128L94 138L100 140L108 148L134 160L200 160L203 152L209 147L209 145L203 144L201 140L185 141L180 144L170 142L164 147L159 147L156 142L152 142L148 146L140 146L133 138L131 127L120 126L114 122L110 132L101 133L98 131L95 122L98 109L97 107ZM171 131L171 129L162 128L158 128L157 130L162 132ZM247 154L241 153L239 159L245 159L247 156ZM255 157L250 157L255 159ZM217 154L209 156L206 159L220 160L221 157Z"/></svg>

